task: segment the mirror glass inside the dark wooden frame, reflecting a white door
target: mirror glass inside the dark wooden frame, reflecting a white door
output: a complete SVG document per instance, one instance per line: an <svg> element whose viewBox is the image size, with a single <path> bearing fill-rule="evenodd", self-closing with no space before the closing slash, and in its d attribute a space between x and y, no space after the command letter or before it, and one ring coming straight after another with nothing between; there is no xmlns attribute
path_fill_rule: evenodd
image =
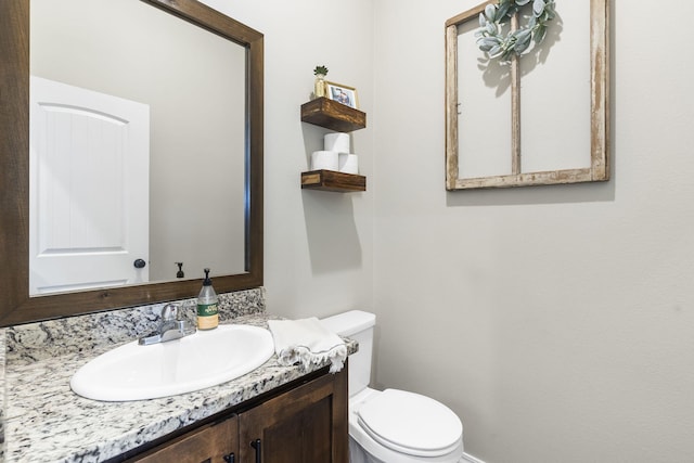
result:
<svg viewBox="0 0 694 463"><path fill-rule="evenodd" d="M29 295L245 271L245 47L142 1L29 14Z"/></svg>

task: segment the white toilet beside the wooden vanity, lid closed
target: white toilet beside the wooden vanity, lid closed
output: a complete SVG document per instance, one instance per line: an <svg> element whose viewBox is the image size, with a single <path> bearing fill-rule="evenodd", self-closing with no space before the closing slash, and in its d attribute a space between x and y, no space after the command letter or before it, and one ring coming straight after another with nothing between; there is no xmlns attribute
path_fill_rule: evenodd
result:
<svg viewBox="0 0 694 463"><path fill-rule="evenodd" d="M368 387L376 323L373 313L352 310L321 322L359 343L359 351L349 356L350 463L463 461L463 425L452 410L419 394Z"/></svg>

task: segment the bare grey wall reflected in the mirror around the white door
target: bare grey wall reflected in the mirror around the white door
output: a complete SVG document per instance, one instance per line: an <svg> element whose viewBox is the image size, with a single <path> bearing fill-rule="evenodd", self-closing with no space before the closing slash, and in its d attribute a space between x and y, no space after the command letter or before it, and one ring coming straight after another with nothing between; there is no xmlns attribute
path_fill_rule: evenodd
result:
<svg viewBox="0 0 694 463"><path fill-rule="evenodd" d="M31 0L31 75L151 108L150 281L245 270L245 48L141 1Z"/></svg>

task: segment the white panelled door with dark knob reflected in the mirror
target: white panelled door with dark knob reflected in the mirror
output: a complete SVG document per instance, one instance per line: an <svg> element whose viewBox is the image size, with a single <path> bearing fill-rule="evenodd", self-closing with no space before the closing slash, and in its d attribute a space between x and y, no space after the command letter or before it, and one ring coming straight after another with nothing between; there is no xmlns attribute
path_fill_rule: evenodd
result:
<svg viewBox="0 0 694 463"><path fill-rule="evenodd" d="M149 105L31 76L29 152L29 293L149 281Z"/></svg>

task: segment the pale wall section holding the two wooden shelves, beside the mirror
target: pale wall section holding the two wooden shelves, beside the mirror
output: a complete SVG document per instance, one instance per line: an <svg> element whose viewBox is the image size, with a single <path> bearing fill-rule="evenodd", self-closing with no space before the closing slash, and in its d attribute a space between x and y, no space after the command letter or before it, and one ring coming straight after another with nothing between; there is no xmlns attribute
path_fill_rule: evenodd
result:
<svg viewBox="0 0 694 463"><path fill-rule="evenodd" d="M292 318L372 305L373 1L206 0L265 35L265 286L268 310ZM300 121L313 68L356 87L368 127L352 150L365 193L300 190L329 130Z"/></svg>

